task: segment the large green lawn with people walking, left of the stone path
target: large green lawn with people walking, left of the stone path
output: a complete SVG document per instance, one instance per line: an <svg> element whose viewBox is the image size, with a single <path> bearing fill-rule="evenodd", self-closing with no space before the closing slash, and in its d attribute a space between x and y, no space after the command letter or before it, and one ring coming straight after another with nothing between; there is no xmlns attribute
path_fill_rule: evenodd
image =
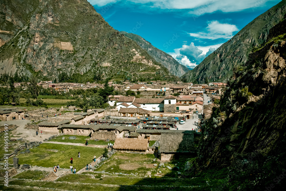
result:
<svg viewBox="0 0 286 191"><path fill-rule="evenodd" d="M38 148L30 149L30 151L30 153L17 155L19 164L43 167L53 167L59 164L60 168L69 168L71 165L70 158L73 157L73 166L80 170L92 162L94 155L96 157L101 156L103 148L43 143ZM81 153L80 158L78 158L79 151ZM13 164L13 157L9 159L9 163Z"/></svg>

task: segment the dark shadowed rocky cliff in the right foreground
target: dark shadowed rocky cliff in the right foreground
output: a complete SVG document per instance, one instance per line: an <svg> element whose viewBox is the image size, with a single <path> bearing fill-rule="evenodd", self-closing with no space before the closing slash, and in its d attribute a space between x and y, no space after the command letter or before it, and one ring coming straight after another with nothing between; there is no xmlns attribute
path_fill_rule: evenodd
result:
<svg viewBox="0 0 286 191"><path fill-rule="evenodd" d="M237 68L202 129L199 169L225 168L235 190L285 190L286 180L275 180L286 166L285 26L286 20L271 28Z"/></svg>

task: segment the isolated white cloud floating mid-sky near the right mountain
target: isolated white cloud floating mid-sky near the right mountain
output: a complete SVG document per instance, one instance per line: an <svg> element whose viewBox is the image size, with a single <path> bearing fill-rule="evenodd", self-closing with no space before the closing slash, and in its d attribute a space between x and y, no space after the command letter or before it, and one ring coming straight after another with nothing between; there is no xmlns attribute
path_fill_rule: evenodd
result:
<svg viewBox="0 0 286 191"><path fill-rule="evenodd" d="M220 23L219 21L211 21L206 27L207 32L189 33L190 36L202 39L230 39L233 32L238 31L235 25L228 23Z"/></svg>

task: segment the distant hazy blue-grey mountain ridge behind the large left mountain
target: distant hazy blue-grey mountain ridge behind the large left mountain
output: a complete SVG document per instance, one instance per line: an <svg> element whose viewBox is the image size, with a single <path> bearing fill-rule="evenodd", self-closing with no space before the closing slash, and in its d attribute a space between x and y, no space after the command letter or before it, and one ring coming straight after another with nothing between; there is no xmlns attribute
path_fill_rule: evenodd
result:
<svg viewBox="0 0 286 191"><path fill-rule="evenodd" d="M168 68L171 74L174 74L180 77L189 71L189 69L186 66L180 64L171 55L154 47L150 42L148 42L141 36L133 34L133 33L127 33L125 31L120 31L120 33L124 34L128 38L131 38L132 40L137 42L137 44L141 48L146 50L148 54L152 56L157 62L160 62L161 64L163 64L163 66Z"/></svg>

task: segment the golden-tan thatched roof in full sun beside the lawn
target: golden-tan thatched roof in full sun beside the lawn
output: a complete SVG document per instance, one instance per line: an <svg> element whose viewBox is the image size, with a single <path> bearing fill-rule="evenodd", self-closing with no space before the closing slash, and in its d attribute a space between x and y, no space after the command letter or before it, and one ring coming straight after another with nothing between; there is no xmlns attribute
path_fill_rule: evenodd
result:
<svg viewBox="0 0 286 191"><path fill-rule="evenodd" d="M113 148L116 150L146 151L148 139L116 138Z"/></svg>

